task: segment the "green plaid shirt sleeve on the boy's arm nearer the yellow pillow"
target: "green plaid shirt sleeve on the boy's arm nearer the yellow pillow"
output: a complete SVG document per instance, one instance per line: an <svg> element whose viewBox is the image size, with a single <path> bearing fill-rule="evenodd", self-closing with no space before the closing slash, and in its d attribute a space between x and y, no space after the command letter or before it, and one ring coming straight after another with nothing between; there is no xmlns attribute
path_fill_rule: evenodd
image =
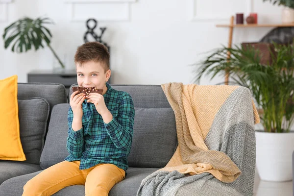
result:
<svg viewBox="0 0 294 196"><path fill-rule="evenodd" d="M68 112L68 137L67 137L67 150L70 155L74 158L79 158L82 156L84 151L84 130L83 126L80 130L74 131L72 128L73 124L73 110L72 107L69 108Z"/></svg>

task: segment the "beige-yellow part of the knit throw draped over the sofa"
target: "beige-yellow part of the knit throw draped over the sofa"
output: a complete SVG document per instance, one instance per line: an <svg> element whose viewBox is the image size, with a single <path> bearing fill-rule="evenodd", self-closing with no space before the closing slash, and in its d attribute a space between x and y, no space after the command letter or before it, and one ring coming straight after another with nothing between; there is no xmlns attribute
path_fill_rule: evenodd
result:
<svg viewBox="0 0 294 196"><path fill-rule="evenodd" d="M162 89L174 111L178 147L171 160L160 171L178 171L190 175L209 172L222 182L233 182L241 174L225 153L210 150L204 140L225 100L239 86L162 84ZM253 104L254 123L259 115Z"/></svg>

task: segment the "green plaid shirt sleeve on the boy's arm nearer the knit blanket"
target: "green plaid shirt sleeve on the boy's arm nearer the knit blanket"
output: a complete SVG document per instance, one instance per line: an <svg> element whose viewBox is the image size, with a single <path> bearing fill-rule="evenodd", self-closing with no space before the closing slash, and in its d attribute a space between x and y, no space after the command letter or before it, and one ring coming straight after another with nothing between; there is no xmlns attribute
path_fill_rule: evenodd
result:
<svg viewBox="0 0 294 196"><path fill-rule="evenodd" d="M125 94L120 102L117 118L104 123L107 133L119 149L128 149L132 144L135 109L131 96Z"/></svg>

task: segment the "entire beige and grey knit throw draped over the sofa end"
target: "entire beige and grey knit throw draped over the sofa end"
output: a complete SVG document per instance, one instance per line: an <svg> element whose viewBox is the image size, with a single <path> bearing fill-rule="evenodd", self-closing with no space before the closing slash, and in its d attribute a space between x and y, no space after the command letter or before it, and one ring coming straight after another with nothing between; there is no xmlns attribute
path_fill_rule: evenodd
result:
<svg viewBox="0 0 294 196"><path fill-rule="evenodd" d="M165 84L162 88L175 112L181 165L178 160L174 161L174 155L165 168L151 173L142 181L137 196L253 196L256 157L254 124L259 123L259 116L249 89L239 86L197 86L181 83ZM176 91L180 94L175 93ZM189 124L189 120L185 119L191 118L185 115L187 112L180 112L187 110L185 104L192 104L193 112L190 113L196 118L207 149L197 148L193 136L192 144L196 146L194 148L187 144L187 138L182 138L186 136L181 131L196 131L191 130L191 126L180 125L187 122ZM209 121L206 119L212 120L206 122ZM189 149L183 146L188 146ZM190 150L188 158L183 153L183 150L187 149ZM194 150L193 158L191 150ZM231 161L228 168L221 165L222 162L228 162L222 154ZM201 171L198 170L197 163L204 163L212 168ZM235 164L240 172L231 172L230 164L232 167ZM189 172L183 172L181 168L185 165L195 167L189 169Z"/></svg>

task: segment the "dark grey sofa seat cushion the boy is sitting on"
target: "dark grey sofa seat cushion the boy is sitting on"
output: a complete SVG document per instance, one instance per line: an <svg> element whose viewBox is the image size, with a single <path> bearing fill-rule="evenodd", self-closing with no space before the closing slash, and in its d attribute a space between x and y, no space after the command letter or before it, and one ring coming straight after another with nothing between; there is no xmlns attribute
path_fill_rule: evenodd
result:
<svg viewBox="0 0 294 196"><path fill-rule="evenodd" d="M126 178L116 184L108 196L136 196L142 180L155 172L156 168L129 168ZM25 183L40 172L34 172L6 180L0 185L0 195L21 196ZM66 187L52 196L85 196L85 186L75 185Z"/></svg>

